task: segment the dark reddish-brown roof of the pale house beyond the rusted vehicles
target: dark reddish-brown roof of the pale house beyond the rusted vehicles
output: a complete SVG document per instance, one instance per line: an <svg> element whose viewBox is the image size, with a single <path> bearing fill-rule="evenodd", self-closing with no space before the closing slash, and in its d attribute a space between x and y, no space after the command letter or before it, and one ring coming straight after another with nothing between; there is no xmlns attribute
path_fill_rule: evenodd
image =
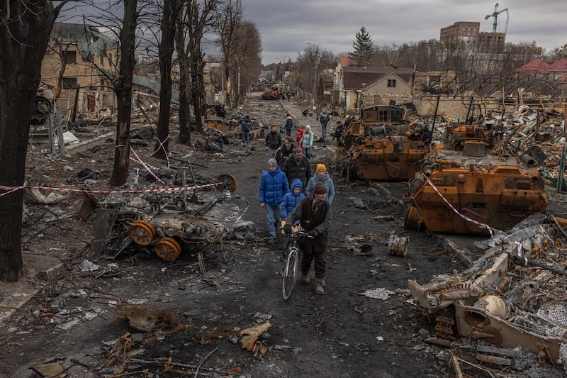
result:
<svg viewBox="0 0 567 378"><path fill-rule="evenodd" d="M380 81L389 74L395 74L403 81L410 82L413 74L411 68L393 67L344 67L343 68L343 87L345 91L356 91L364 89L370 84Z"/></svg>

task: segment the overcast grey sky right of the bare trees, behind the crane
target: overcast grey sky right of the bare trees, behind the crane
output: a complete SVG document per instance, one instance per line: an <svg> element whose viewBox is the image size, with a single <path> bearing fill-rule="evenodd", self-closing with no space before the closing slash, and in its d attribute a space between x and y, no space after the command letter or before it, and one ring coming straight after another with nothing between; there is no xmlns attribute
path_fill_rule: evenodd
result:
<svg viewBox="0 0 567 378"><path fill-rule="evenodd" d="M481 31L492 32L492 0L242 0L246 17L262 35L264 65L296 60L308 45L320 45L335 53L352 51L354 35L365 26L374 45L403 45L420 40L439 40L439 30L458 21L481 23ZM567 44L567 1L502 0L498 10L498 32L504 32L510 14L506 41L536 41L541 48Z"/></svg>

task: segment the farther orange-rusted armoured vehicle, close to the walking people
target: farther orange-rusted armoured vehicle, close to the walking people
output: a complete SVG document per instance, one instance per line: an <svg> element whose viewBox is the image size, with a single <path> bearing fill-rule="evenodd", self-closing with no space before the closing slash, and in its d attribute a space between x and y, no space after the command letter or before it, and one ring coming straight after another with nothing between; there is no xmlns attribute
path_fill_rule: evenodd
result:
<svg viewBox="0 0 567 378"><path fill-rule="evenodd" d="M352 121L342 134L332 160L348 179L403 181L420 169L428 151L430 130L417 120L402 119L404 109L377 105L362 109L361 119Z"/></svg>

